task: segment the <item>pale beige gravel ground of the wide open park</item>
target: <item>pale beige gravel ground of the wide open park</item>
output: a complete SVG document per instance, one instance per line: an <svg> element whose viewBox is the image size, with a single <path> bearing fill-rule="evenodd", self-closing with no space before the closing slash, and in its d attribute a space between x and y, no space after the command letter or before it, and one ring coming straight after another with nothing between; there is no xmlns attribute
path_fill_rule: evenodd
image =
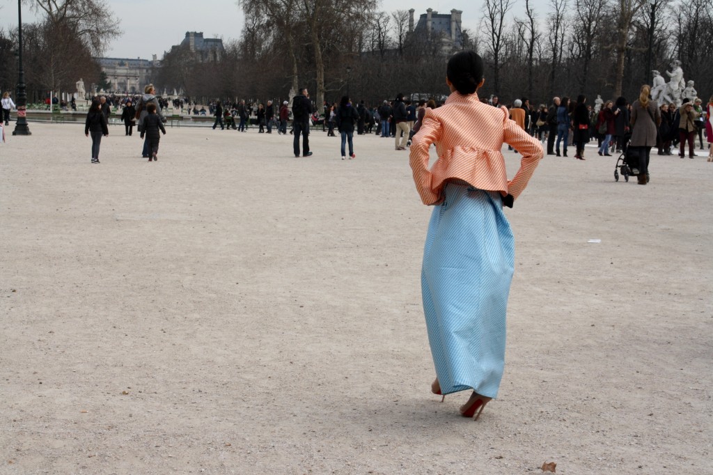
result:
<svg viewBox="0 0 713 475"><path fill-rule="evenodd" d="M393 141L169 128L147 163L114 126L91 165L80 125L30 128L0 145L1 474L713 474L704 157L647 186L545 157L473 422L430 393Z"/></svg>

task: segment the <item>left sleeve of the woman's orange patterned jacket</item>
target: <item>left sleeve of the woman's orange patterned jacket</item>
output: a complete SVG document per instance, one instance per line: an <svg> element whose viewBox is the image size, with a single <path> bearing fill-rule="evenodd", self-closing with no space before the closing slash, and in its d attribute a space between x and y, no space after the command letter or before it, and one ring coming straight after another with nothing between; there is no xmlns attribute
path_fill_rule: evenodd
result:
<svg viewBox="0 0 713 475"><path fill-rule="evenodd" d="M414 136L414 141L411 143L411 153L409 155L416 190L419 192L424 205L437 205L441 202L440 190L436 193L431 188L433 175L431 175L431 170L429 170L429 159L431 156L429 154L429 148L431 148L432 143L441 139L443 126L441 121L435 118L431 112L432 111L426 111L419 134Z"/></svg>

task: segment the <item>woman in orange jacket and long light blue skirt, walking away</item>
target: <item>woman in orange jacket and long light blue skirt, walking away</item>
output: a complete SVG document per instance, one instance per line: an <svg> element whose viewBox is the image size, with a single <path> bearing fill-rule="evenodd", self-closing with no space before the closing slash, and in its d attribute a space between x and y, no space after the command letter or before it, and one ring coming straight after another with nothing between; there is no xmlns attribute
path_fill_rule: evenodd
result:
<svg viewBox="0 0 713 475"><path fill-rule="evenodd" d="M498 395L505 365L506 307L514 243L503 205L512 207L535 172L543 149L508 118L506 108L481 103L483 60L463 51L448 61L446 103L426 111L411 144L414 183L434 206L421 294L436 380L435 394L472 389L460 409L478 419ZM503 143L522 158L508 181ZM429 148L438 160L429 170Z"/></svg>

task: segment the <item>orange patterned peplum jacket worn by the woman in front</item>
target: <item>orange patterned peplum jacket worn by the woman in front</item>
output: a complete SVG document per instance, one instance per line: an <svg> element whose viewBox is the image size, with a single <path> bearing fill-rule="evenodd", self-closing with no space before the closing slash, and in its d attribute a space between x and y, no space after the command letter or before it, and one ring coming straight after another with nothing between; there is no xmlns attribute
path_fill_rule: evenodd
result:
<svg viewBox="0 0 713 475"><path fill-rule="evenodd" d="M522 155L520 169L508 182L503 142ZM438 160L429 170L429 148L436 144ZM508 118L506 108L483 104L477 94L454 92L439 108L427 110L411 143L411 169L416 189L426 205L443 198L443 181L464 180L475 188L510 193L517 199L543 157L540 141Z"/></svg>

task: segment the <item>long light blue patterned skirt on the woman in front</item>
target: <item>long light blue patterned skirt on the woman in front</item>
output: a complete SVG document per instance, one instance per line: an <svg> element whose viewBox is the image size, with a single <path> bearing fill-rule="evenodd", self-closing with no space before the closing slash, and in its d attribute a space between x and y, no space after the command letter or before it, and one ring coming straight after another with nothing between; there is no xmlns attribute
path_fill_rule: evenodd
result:
<svg viewBox="0 0 713 475"><path fill-rule="evenodd" d="M513 233L500 193L446 184L426 235L421 292L441 392L496 397L505 365Z"/></svg>

